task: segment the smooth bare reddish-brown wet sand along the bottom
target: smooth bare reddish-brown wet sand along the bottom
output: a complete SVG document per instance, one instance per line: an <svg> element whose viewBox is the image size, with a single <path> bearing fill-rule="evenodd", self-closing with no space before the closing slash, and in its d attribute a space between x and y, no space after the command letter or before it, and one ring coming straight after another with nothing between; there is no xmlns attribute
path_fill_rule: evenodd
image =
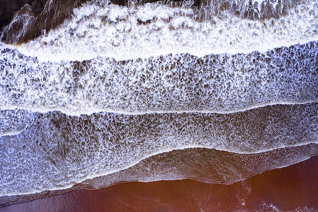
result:
<svg viewBox="0 0 318 212"><path fill-rule="evenodd" d="M273 209L271 203L284 211L298 207L318 211L317 191L318 157L313 157L232 185L194 180L124 183L13 204L0 211L265 211Z"/></svg>

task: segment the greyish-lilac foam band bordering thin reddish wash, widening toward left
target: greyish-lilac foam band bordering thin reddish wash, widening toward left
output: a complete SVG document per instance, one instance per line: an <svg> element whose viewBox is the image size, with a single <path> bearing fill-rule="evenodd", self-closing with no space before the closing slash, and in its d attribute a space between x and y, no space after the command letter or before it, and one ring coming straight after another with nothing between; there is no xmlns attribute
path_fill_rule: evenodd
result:
<svg viewBox="0 0 318 212"><path fill-rule="evenodd" d="M174 149L205 147L262 154L318 143L317 106L276 105L234 114L98 113L77 117L36 113L34 124L23 132L0 137L1 195L71 187ZM313 146L299 157L316 154ZM277 167L282 165L285 163Z"/></svg>

